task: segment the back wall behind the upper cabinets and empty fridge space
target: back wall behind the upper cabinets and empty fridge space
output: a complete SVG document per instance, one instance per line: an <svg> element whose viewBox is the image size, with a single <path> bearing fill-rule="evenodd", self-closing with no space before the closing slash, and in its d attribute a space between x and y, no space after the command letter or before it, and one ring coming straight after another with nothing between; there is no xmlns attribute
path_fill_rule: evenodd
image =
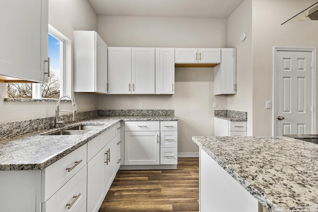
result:
<svg viewBox="0 0 318 212"><path fill-rule="evenodd" d="M227 47L227 19L98 16L98 34L108 46ZM212 103L227 109L226 96L213 95L213 68L176 68L174 95L100 95L98 109L174 109L178 152L198 153L192 136L213 135Z"/></svg>

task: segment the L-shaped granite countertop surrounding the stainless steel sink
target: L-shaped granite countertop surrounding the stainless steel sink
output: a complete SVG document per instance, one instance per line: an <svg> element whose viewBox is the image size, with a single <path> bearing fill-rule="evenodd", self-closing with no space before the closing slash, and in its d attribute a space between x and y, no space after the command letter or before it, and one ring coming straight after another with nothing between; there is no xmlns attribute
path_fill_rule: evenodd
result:
<svg viewBox="0 0 318 212"><path fill-rule="evenodd" d="M97 137L120 121L177 121L174 116L97 116L68 124L65 127L42 130L0 141L0 170L43 169L81 145ZM77 125L101 125L84 135L45 136Z"/></svg>

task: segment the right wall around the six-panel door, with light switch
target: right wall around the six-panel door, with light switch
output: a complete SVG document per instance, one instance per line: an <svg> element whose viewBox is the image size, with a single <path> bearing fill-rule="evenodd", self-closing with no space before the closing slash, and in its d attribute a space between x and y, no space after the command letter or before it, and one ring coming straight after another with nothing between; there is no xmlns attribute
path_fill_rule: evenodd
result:
<svg viewBox="0 0 318 212"><path fill-rule="evenodd" d="M318 46L318 21L299 21L281 26L317 0L252 0L253 34L253 135L272 135L273 47Z"/></svg>

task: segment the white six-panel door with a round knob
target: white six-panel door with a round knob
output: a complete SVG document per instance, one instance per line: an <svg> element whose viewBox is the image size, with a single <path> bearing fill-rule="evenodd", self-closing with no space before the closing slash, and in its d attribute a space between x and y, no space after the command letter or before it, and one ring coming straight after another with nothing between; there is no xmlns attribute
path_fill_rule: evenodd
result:
<svg viewBox="0 0 318 212"><path fill-rule="evenodd" d="M276 52L274 66L277 92L274 118L277 136L315 133L313 111L316 104L316 71L313 69L313 58L313 51Z"/></svg>

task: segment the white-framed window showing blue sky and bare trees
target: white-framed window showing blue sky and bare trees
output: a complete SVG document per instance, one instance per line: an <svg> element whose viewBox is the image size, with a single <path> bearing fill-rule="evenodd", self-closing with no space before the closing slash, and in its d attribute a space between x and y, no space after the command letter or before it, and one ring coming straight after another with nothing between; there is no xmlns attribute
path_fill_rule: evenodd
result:
<svg viewBox="0 0 318 212"><path fill-rule="evenodd" d="M50 57L51 76L47 83L8 83L8 98L58 99L66 94L66 70L70 66L71 41L49 25L48 55ZM71 72L71 71L69 71ZM70 78L70 76L68 77ZM70 95L70 93L68 92Z"/></svg>

